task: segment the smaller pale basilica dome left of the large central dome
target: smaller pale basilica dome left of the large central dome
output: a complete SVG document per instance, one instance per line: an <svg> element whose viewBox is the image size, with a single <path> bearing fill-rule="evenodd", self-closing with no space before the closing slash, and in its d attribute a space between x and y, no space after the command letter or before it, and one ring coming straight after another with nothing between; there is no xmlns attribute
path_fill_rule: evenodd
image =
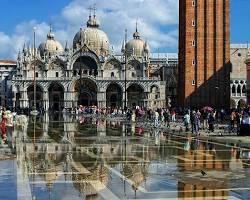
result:
<svg viewBox="0 0 250 200"><path fill-rule="evenodd" d="M41 56L44 56L45 54L54 55L62 53L63 47L60 44L60 42L55 40L55 35L50 30L49 33L47 34L46 41L39 45L38 50Z"/></svg>

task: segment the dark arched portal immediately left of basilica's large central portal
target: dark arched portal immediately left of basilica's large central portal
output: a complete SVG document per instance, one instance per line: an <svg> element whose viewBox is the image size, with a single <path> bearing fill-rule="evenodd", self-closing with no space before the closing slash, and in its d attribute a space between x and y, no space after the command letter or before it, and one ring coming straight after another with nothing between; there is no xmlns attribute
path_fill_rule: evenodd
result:
<svg viewBox="0 0 250 200"><path fill-rule="evenodd" d="M64 107L64 90L58 83L49 86L49 109L61 111Z"/></svg>

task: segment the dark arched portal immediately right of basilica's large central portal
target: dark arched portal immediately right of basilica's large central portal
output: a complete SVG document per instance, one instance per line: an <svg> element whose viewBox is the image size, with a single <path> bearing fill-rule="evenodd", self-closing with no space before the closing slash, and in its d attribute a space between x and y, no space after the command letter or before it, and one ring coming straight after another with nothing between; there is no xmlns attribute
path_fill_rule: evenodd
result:
<svg viewBox="0 0 250 200"><path fill-rule="evenodd" d="M116 83L110 84L106 90L106 106L122 107L122 89Z"/></svg>

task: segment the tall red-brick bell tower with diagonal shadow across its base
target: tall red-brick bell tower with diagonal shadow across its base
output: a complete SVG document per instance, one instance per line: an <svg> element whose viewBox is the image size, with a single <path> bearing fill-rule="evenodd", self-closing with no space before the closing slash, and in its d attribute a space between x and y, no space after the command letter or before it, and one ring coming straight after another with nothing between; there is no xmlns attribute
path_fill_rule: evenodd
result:
<svg viewBox="0 0 250 200"><path fill-rule="evenodd" d="M179 105L230 106L230 0L179 0Z"/></svg>

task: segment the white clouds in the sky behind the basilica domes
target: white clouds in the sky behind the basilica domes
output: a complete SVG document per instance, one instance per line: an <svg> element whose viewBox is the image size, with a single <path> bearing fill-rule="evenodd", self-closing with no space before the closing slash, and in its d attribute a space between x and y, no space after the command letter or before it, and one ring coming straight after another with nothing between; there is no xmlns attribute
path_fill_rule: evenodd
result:
<svg viewBox="0 0 250 200"><path fill-rule="evenodd" d="M80 27L86 26L93 0L73 0L61 13L53 18L56 38L64 46L68 41L72 45L73 37ZM124 39L124 30L128 29L128 38L132 38L135 23L143 39L147 40L151 49L157 48L177 50L178 40L178 1L176 0L109 0L97 1L97 17L101 21L101 29L110 39L110 45L120 51ZM35 16L34 16L35 18ZM162 27L175 27L170 30ZM37 27L37 43L45 40L49 30L46 22L35 19L22 22L14 33L7 35L0 30L0 57L15 58L23 43L32 45L32 29ZM168 30L168 31L166 31Z"/></svg>

